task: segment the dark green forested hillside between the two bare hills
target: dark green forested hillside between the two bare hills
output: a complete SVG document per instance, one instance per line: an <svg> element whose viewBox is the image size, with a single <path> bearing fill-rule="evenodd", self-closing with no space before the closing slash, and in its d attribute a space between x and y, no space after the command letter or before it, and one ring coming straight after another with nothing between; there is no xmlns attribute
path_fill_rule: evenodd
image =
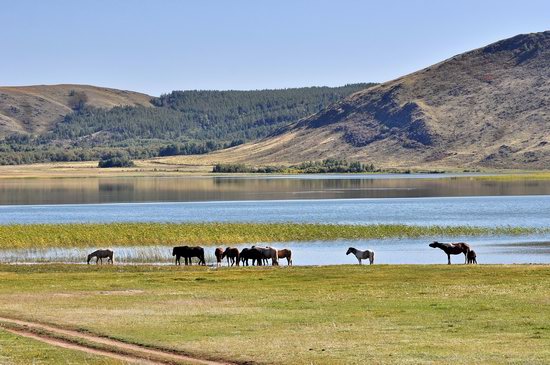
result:
<svg viewBox="0 0 550 365"><path fill-rule="evenodd" d="M71 89L62 95L66 103L71 93L86 101L72 100L68 114L59 103L65 109L57 111L61 119L55 123L15 128L17 133L0 139L0 164L91 160L121 150L132 158L206 153L263 138L369 86L174 91L148 104L111 108L85 90ZM10 103L8 109L19 108Z"/></svg>

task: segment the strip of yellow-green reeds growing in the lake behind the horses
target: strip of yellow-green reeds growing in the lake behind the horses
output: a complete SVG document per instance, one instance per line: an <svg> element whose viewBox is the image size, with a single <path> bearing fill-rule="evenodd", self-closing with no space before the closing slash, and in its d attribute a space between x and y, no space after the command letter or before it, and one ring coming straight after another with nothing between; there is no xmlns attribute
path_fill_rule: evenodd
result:
<svg viewBox="0 0 550 365"><path fill-rule="evenodd" d="M88 247L97 244L137 246L217 245L334 239L383 239L525 235L550 228L258 223L112 223L0 226L0 248Z"/></svg>

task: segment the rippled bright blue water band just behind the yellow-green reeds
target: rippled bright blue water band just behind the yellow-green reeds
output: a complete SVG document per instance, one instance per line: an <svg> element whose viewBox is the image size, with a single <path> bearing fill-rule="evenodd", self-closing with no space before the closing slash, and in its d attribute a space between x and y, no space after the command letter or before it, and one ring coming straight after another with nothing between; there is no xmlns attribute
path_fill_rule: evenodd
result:
<svg viewBox="0 0 550 365"><path fill-rule="evenodd" d="M0 224L308 222L550 226L550 196L0 206Z"/></svg>

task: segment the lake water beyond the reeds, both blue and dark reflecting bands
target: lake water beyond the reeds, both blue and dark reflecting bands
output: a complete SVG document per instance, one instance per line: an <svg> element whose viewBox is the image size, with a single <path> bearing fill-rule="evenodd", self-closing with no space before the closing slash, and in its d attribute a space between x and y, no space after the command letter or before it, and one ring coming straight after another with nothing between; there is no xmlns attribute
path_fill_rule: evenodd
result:
<svg viewBox="0 0 550 365"><path fill-rule="evenodd" d="M550 226L550 180L475 175L0 179L0 224L297 222Z"/></svg>

